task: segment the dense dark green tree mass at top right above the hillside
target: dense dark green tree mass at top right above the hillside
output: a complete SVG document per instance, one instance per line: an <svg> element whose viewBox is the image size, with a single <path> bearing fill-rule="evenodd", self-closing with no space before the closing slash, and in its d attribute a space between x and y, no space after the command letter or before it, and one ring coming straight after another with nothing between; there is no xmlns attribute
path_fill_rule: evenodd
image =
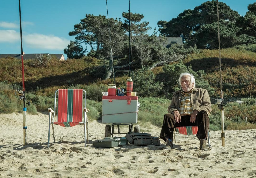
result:
<svg viewBox="0 0 256 178"><path fill-rule="evenodd" d="M220 43L222 48L255 43L255 6L248 6L245 17L232 10L226 3L219 2ZM159 31L165 36L184 35L188 45L200 49L218 48L217 1L207 1L193 10L184 10L170 21L158 21Z"/></svg>

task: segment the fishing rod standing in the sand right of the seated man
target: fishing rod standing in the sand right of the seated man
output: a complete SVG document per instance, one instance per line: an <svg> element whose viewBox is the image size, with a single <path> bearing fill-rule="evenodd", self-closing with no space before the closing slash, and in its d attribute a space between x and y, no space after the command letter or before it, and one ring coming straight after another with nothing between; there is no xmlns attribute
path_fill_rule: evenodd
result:
<svg viewBox="0 0 256 178"><path fill-rule="evenodd" d="M222 75L221 75L221 55L220 55L220 25L219 25L219 5L217 0L217 19L218 19L218 41L219 41L219 69L220 69L220 98L217 99L217 104L221 112L221 140L222 146L225 147L225 131L224 131L224 106L223 104L223 93L222 93Z"/></svg>

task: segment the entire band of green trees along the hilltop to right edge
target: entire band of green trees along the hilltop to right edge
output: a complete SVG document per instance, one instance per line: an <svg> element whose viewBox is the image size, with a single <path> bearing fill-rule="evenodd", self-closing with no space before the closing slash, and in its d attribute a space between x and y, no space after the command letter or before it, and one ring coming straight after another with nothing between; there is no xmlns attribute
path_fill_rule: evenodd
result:
<svg viewBox="0 0 256 178"><path fill-rule="evenodd" d="M219 2L219 28L221 48L256 43L256 3L248 5L246 15L240 16L227 4ZM193 10L187 9L170 21L158 21L149 35L149 22L142 14L123 12L121 18L106 18L86 14L74 25L74 36L64 50L68 58L85 55L100 60L100 68L91 72L110 78L114 69L153 69L156 66L178 61L198 49L218 48L217 1L207 1ZM166 47L166 37L184 35L185 44ZM192 47L191 47L192 46ZM89 50L87 49L90 48ZM131 60L130 60L131 59Z"/></svg>

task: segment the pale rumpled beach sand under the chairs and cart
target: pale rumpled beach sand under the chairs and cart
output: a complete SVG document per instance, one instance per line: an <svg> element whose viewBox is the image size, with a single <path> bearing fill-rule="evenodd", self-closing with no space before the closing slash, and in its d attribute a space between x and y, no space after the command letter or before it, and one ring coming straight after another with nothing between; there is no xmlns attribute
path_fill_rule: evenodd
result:
<svg viewBox="0 0 256 178"><path fill-rule="evenodd" d="M209 151L199 149L195 135L176 134L174 149L127 145L94 148L104 138L105 124L89 120L89 144L83 126L55 125L47 148L48 115L27 115L27 145L23 145L23 115L0 114L0 177L256 177L256 130L211 131ZM161 128L144 123L152 136ZM128 126L121 128L128 131ZM124 136L124 135L114 135Z"/></svg>

